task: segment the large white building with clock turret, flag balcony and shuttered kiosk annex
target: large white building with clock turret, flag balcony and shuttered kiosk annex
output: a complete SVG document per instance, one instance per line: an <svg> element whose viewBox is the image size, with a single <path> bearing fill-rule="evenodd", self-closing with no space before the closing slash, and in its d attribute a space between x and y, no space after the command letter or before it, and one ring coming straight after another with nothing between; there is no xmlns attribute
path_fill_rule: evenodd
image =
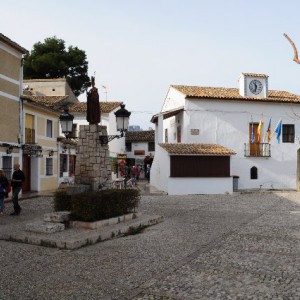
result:
<svg viewBox="0 0 300 300"><path fill-rule="evenodd" d="M236 175L239 189L298 189L299 118L300 96L269 90L263 74L241 74L239 88L171 86L152 117L151 184L169 194L231 193Z"/></svg>

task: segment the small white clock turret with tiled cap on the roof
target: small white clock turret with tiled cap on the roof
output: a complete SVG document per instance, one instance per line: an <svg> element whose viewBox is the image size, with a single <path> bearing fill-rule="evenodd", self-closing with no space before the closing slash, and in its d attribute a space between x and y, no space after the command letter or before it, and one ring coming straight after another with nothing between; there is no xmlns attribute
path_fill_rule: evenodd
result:
<svg viewBox="0 0 300 300"><path fill-rule="evenodd" d="M268 75L242 73L239 79L240 95L252 98L268 97Z"/></svg>

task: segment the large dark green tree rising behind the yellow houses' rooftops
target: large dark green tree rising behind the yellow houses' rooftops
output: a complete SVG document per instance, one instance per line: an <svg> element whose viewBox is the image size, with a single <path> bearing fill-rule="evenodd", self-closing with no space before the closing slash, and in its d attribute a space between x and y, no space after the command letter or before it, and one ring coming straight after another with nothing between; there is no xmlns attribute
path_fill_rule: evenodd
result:
<svg viewBox="0 0 300 300"><path fill-rule="evenodd" d="M87 72L85 51L73 46L66 50L65 41L55 36L34 44L24 59L24 79L65 77L76 96L90 86Z"/></svg>

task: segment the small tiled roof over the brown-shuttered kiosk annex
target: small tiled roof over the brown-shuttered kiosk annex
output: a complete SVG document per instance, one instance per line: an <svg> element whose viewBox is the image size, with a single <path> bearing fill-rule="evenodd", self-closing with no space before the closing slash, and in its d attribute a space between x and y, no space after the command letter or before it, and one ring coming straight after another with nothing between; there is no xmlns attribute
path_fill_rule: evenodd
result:
<svg viewBox="0 0 300 300"><path fill-rule="evenodd" d="M171 155L235 155L233 150L217 144L159 144Z"/></svg>

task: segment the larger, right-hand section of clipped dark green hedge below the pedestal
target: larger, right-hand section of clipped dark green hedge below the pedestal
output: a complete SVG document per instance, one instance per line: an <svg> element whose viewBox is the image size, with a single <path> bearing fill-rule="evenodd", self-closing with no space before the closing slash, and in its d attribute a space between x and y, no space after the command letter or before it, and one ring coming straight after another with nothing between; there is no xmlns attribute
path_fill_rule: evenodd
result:
<svg viewBox="0 0 300 300"><path fill-rule="evenodd" d="M72 195L72 219L94 222L118 217L135 210L140 193L135 189L108 189Z"/></svg>

